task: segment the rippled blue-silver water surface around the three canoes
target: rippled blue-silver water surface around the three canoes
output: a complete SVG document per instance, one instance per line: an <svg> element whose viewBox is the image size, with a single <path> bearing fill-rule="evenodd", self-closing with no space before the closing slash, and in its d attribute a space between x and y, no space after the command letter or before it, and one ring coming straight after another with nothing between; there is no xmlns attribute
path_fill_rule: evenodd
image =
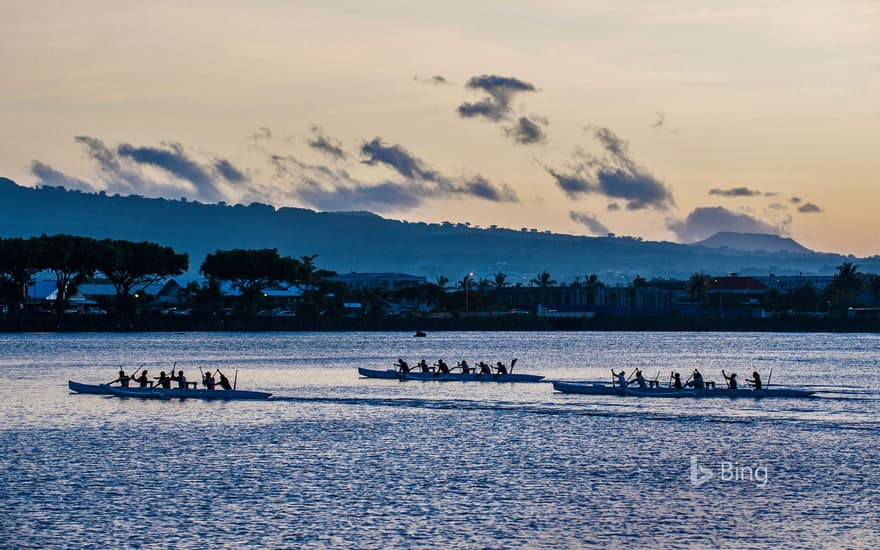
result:
<svg viewBox="0 0 880 550"><path fill-rule="evenodd" d="M720 333L0 335L2 547L880 546L880 337ZM358 366L641 366L815 399L635 399L363 380ZM269 402L71 395L220 368ZM693 462L693 465L692 465ZM708 472L702 484L691 480ZM700 482L699 476L695 481Z"/></svg>

